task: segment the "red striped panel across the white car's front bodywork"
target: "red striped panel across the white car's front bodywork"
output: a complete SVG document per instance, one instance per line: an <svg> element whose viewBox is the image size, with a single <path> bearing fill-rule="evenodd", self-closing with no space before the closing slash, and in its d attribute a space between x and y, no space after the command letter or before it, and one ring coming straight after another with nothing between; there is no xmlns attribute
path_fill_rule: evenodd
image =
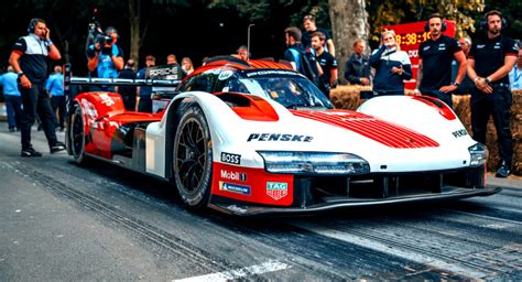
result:
<svg viewBox="0 0 522 282"><path fill-rule="evenodd" d="M391 148L411 149L438 147L436 141L418 132L357 111L331 110L317 112L293 110L292 113L296 117L351 130Z"/></svg>

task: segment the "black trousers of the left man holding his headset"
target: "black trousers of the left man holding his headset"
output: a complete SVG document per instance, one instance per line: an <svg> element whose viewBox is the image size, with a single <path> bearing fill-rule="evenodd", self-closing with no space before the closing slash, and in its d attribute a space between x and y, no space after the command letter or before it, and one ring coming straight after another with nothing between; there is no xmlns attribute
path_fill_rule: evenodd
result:
<svg viewBox="0 0 522 282"><path fill-rule="evenodd" d="M31 147L31 128L34 124L36 115L42 121L42 127L47 138L50 147L56 144L56 132L55 132L55 116L53 108L51 107L47 91L43 85L33 84L31 88L20 87L22 94L22 150Z"/></svg>

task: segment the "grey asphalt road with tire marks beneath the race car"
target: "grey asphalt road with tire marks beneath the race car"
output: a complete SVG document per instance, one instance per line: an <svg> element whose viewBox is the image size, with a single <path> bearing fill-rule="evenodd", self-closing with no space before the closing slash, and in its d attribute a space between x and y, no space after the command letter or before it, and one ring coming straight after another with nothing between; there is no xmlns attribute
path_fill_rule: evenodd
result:
<svg viewBox="0 0 522 282"><path fill-rule="evenodd" d="M490 197L240 218L51 155L43 132L33 144L44 156L20 158L20 134L0 123L2 281L522 280L520 180L490 178L504 187Z"/></svg>

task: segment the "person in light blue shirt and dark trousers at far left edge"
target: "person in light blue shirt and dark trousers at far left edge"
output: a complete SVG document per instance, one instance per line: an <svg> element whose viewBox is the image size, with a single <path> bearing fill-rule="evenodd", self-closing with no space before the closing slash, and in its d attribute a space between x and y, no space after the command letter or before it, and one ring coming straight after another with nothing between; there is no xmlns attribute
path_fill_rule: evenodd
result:
<svg viewBox="0 0 522 282"><path fill-rule="evenodd" d="M22 97L18 90L18 75L12 66L8 67L8 72L0 75L0 84L3 87L3 98L8 108L9 132L20 130L20 119L22 117Z"/></svg>

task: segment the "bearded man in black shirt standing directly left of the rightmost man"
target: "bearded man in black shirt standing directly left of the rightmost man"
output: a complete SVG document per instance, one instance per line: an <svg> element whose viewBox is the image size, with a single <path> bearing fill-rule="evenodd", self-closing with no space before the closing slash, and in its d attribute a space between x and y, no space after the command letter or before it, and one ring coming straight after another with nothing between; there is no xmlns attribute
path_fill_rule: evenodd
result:
<svg viewBox="0 0 522 282"><path fill-rule="evenodd" d="M426 31L431 37L418 46L418 73L416 94L443 100L453 107L452 93L457 89L466 74L466 55L457 40L444 35L446 30L441 14L429 15ZM458 64L458 73L452 83L452 61Z"/></svg>

